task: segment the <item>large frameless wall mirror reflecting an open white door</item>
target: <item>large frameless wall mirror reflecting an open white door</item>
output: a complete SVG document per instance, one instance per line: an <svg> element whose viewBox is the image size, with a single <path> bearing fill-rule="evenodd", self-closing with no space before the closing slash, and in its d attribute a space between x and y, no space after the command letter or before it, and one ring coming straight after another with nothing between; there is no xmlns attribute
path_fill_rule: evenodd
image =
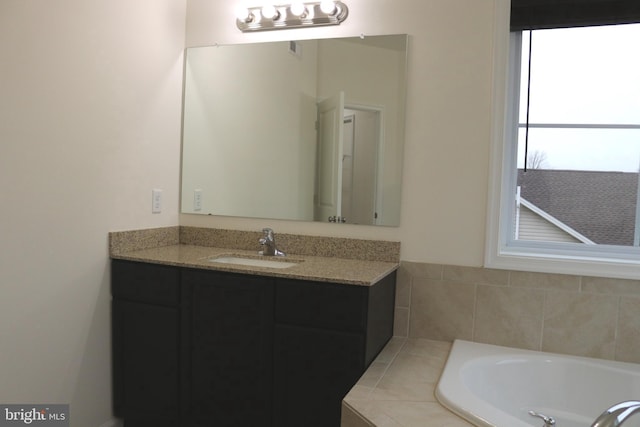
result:
<svg viewBox="0 0 640 427"><path fill-rule="evenodd" d="M183 213L397 226L407 36L189 48Z"/></svg>

